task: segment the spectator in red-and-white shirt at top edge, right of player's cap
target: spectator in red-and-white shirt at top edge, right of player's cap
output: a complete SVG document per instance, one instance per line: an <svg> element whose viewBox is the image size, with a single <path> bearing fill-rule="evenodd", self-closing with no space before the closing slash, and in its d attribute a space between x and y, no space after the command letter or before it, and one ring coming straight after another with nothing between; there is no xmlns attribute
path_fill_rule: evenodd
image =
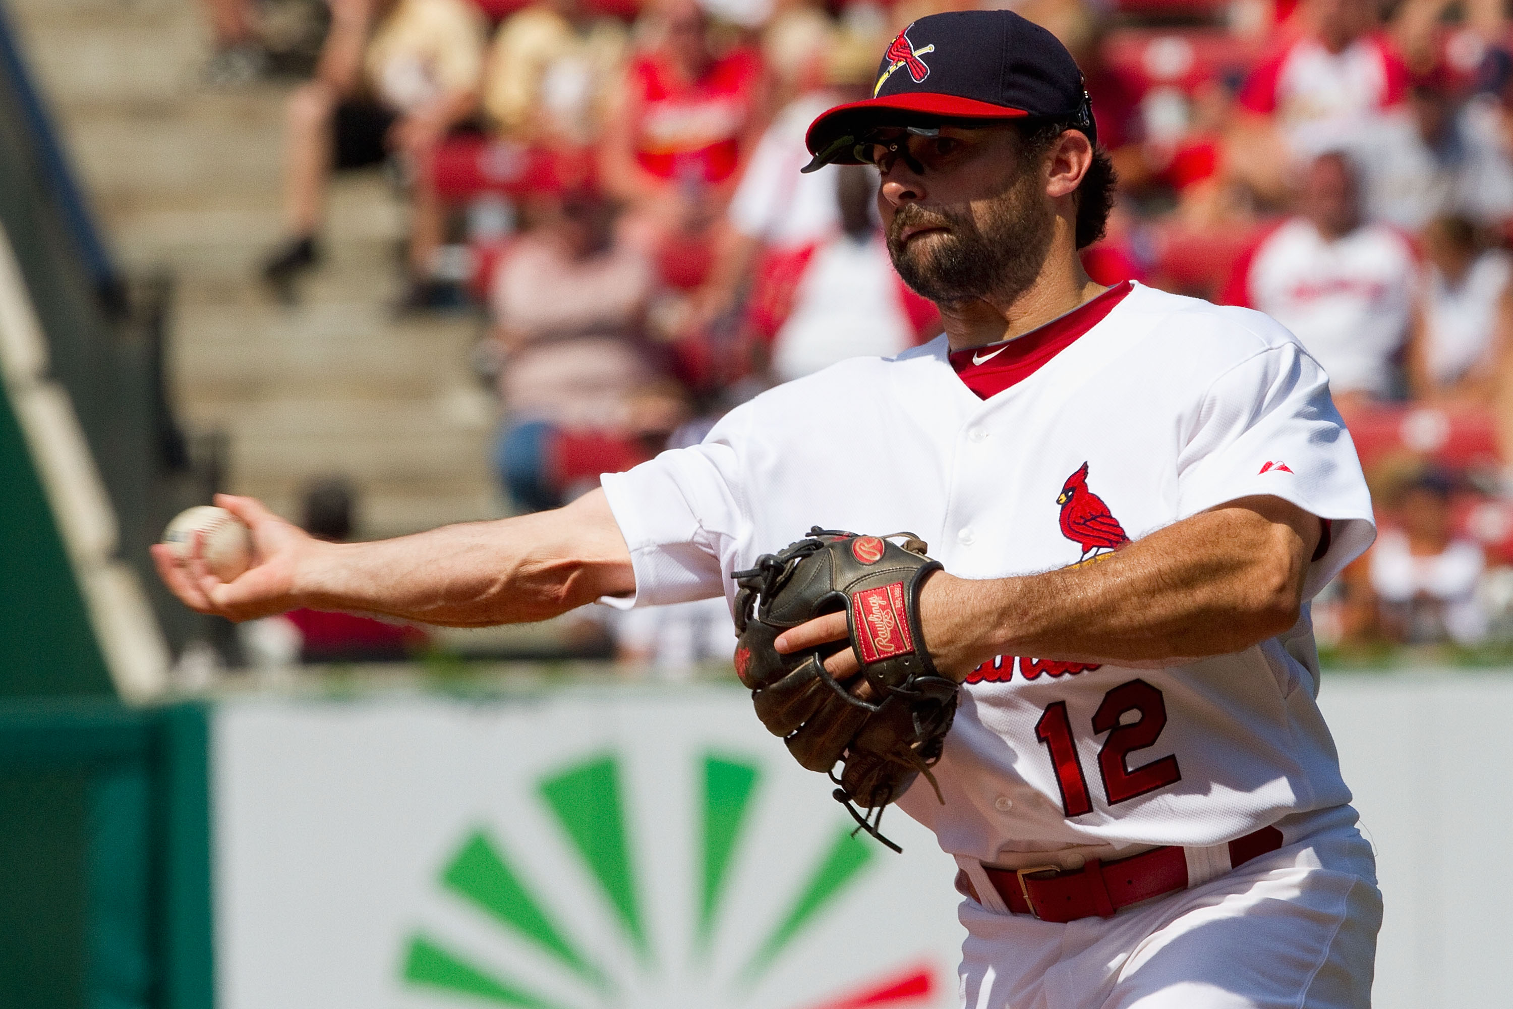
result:
<svg viewBox="0 0 1513 1009"><path fill-rule="evenodd" d="M1350 147L1403 101L1407 65L1380 32L1374 0L1304 0L1306 30L1280 45L1241 88L1235 165L1280 200L1289 169ZM1285 156L1277 156L1285 151Z"/></svg>

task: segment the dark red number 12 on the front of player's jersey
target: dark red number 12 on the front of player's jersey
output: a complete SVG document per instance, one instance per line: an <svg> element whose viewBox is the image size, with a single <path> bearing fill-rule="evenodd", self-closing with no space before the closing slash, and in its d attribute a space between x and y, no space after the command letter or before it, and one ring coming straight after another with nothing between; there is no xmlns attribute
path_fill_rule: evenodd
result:
<svg viewBox="0 0 1513 1009"><path fill-rule="evenodd" d="M1123 719L1136 713L1133 722ZM1098 750L1098 776L1103 778L1103 793L1109 805L1144 796L1147 791L1165 788L1182 781L1176 756L1130 770L1129 755L1156 744L1167 728L1167 702L1160 691L1144 679L1132 679L1103 694L1103 703L1092 713L1092 734L1109 734ZM1035 738L1050 750L1052 767L1056 770L1056 785L1061 788L1061 806L1068 817L1092 812L1092 796L1088 793L1088 776L1077 758L1077 743L1071 734L1071 717L1067 702L1047 705L1045 714L1035 723Z"/></svg>

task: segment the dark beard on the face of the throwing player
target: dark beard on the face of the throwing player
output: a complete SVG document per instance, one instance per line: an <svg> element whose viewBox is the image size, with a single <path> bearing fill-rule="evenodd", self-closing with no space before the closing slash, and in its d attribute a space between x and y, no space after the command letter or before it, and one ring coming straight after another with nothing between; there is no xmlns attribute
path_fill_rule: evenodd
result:
<svg viewBox="0 0 1513 1009"><path fill-rule="evenodd" d="M1021 174L993 200L983 227L968 204L920 207L905 204L888 227L888 256L909 287L937 304L994 298L1011 303L1039 275L1050 250L1055 215L1041 200L1038 172ZM944 225L905 247L908 227ZM929 251L921 244L929 244Z"/></svg>

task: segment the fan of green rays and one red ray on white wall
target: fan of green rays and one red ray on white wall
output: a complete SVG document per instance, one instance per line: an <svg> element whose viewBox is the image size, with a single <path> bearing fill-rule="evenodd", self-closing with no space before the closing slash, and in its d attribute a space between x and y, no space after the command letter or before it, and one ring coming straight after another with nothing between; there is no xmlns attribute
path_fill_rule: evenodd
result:
<svg viewBox="0 0 1513 1009"><path fill-rule="evenodd" d="M755 764L707 753L702 758L702 830L694 852L697 873L693 908L694 953L708 952L725 912L732 855L749 827L747 814L760 773ZM635 952L642 971L654 973L652 948L643 914L643 880L637 879L632 840L625 829L625 790L620 761L613 755L576 764L537 781L543 800L573 855L581 861L605 900L605 914ZM773 967L800 932L858 879L875 858L868 841L852 837L850 823L838 824L828 847L819 849L806 879L797 886L787 911L770 926L763 941L738 971L732 997L749 991ZM575 942L552 915L542 894L531 888L504 846L484 830L471 834L442 870L442 886L483 912L490 923L511 932L545 955L557 968L596 992L593 1006L619 1006L626 991L595 956ZM701 962L691 958L690 962ZM523 1009L578 1009L579 1003L549 998L528 982L495 967L484 967L466 952L425 932L409 939L404 979L410 985L463 995L474 1001ZM932 992L932 973L914 970L858 992L835 1006L887 1006L915 1001Z"/></svg>

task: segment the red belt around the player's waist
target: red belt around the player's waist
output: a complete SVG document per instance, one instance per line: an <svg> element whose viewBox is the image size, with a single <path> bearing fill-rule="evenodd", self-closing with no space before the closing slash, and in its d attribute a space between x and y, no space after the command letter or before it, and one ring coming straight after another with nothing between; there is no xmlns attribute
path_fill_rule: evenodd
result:
<svg viewBox="0 0 1513 1009"><path fill-rule="evenodd" d="M1235 838L1229 847L1233 868L1282 847L1282 830L1262 827ZM1020 870L983 865L982 871L1009 911L1059 923L1094 915L1111 918L1120 908L1188 888L1188 856L1177 846L1151 849L1112 862L1094 858L1082 868L1065 871L1059 865ZM982 903L967 873L959 873L956 883Z"/></svg>

